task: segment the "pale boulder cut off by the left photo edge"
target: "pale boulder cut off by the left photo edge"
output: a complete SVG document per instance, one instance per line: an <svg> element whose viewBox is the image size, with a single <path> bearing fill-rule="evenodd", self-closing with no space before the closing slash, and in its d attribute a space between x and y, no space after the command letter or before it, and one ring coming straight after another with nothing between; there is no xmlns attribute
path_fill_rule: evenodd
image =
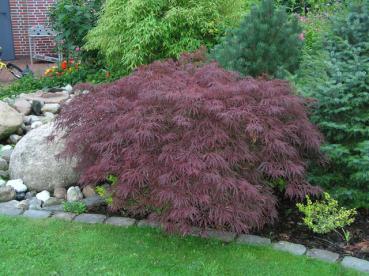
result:
<svg viewBox="0 0 369 276"><path fill-rule="evenodd" d="M23 123L23 115L0 101L0 140L15 133Z"/></svg>

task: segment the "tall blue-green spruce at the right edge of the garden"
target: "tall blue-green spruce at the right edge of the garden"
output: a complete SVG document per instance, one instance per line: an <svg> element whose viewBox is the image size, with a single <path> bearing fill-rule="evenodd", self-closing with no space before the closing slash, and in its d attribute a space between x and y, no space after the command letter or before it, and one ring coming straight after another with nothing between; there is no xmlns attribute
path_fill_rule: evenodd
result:
<svg viewBox="0 0 369 276"><path fill-rule="evenodd" d="M346 205L369 208L369 4L338 15L328 38L328 81L314 89L312 119L325 134L326 170L313 181Z"/></svg>

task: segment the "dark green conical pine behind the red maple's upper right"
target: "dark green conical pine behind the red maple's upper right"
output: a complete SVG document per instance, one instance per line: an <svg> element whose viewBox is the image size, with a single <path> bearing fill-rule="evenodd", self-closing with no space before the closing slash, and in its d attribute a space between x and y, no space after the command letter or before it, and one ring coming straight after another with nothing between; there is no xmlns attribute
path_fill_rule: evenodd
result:
<svg viewBox="0 0 369 276"><path fill-rule="evenodd" d="M243 75L282 77L299 66L301 34L296 16L288 16L273 0L264 0L212 50L211 58Z"/></svg>

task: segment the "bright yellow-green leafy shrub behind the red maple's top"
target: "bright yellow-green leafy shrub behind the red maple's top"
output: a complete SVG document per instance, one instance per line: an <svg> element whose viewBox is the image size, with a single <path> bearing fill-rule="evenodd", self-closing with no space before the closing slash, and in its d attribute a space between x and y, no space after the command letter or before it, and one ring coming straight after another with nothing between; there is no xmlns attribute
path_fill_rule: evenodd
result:
<svg viewBox="0 0 369 276"><path fill-rule="evenodd" d="M85 48L98 50L107 64L128 73L138 65L176 58L201 45L212 47L239 22L249 2L110 0L97 27L87 35Z"/></svg>

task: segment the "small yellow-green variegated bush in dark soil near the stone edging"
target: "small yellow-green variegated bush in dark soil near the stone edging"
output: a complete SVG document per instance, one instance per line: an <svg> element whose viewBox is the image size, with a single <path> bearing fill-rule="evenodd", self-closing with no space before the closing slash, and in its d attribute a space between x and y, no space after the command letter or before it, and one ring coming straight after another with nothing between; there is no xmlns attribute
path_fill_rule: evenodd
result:
<svg viewBox="0 0 369 276"><path fill-rule="evenodd" d="M306 205L298 203L296 206L304 217L305 225L314 233L326 234L337 229L343 229L355 221L356 210L338 206L337 200L324 193L321 201L311 201L306 196Z"/></svg>

